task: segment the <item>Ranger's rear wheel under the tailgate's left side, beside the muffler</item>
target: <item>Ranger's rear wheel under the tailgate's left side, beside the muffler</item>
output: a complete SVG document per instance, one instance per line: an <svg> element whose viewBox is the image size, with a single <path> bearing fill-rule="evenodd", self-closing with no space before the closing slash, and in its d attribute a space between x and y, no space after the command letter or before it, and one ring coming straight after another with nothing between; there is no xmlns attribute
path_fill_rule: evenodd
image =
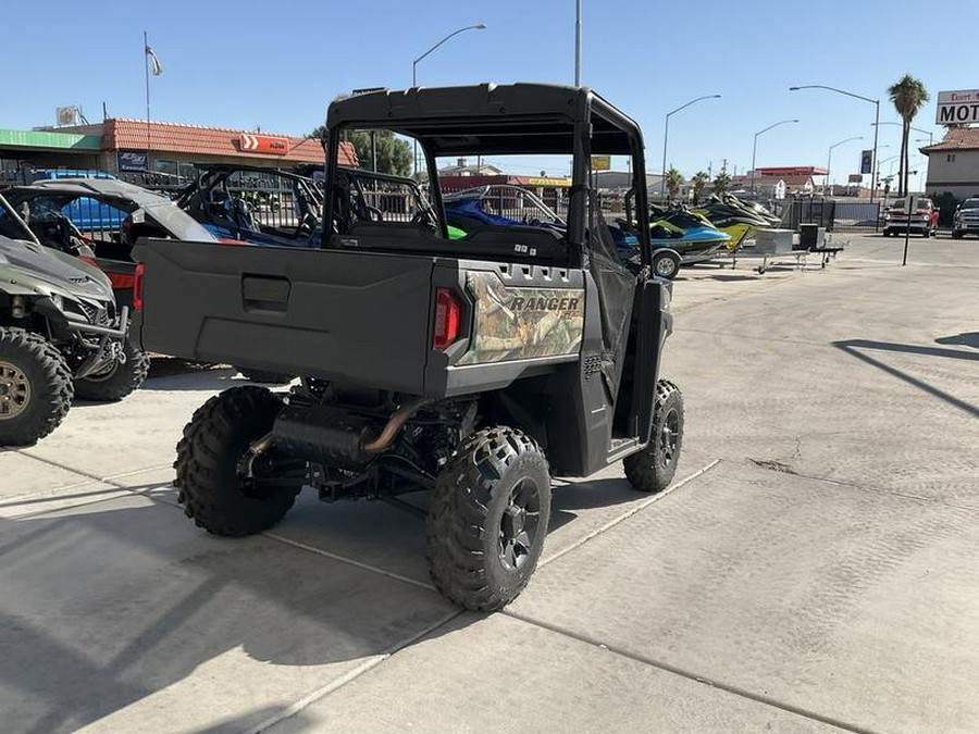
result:
<svg viewBox="0 0 979 734"><path fill-rule="evenodd" d="M184 514L214 535L240 537L268 530L285 517L306 477L306 463L274 446L251 456L272 431L282 401L264 387L246 385L216 395L197 409L177 444L176 482Z"/></svg>

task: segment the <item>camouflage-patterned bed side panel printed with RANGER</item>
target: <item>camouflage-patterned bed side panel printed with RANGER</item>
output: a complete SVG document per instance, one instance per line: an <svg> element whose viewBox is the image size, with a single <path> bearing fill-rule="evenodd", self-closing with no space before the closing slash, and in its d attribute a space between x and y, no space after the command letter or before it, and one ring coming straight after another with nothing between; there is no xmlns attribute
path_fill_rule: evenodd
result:
<svg viewBox="0 0 979 734"><path fill-rule="evenodd" d="M515 288L495 273L467 273L475 299L469 350L457 364L571 354L584 328L583 288Z"/></svg>

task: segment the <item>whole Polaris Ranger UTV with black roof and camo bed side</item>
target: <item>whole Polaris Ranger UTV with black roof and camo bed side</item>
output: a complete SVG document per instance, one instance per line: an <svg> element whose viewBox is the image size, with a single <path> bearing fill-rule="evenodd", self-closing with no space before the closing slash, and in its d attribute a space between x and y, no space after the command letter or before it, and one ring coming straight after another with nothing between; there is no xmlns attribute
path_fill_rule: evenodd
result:
<svg viewBox="0 0 979 734"><path fill-rule="evenodd" d="M179 500L241 536L305 485L401 505L431 489L435 586L499 609L541 557L553 475L623 461L653 493L677 466L682 398L658 380L671 285L650 274L640 128L588 89L537 84L365 94L331 104L327 127L319 249L136 248L146 348L301 375L286 395L236 387L198 409L177 445ZM430 182L439 157L570 155L567 228L451 239L437 183L410 221L372 214L337 166L345 130L372 128L414 138ZM593 153L632 159L628 263L588 187Z"/></svg>

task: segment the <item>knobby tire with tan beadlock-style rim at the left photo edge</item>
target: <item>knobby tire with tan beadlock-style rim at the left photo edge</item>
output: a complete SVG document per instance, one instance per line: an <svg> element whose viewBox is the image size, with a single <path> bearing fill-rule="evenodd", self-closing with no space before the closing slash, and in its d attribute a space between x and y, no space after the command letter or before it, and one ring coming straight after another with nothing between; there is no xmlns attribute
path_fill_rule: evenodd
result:
<svg viewBox="0 0 979 734"><path fill-rule="evenodd" d="M74 398L72 372L50 341L0 327L0 446L29 446L57 428Z"/></svg>

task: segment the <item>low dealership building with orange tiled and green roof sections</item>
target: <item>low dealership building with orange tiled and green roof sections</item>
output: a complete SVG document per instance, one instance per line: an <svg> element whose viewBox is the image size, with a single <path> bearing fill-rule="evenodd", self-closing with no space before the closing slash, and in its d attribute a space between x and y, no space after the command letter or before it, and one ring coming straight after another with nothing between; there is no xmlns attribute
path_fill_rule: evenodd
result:
<svg viewBox="0 0 979 734"><path fill-rule="evenodd" d="M125 117L52 129L0 128L0 179L8 182L37 169L96 169L137 183L147 176L166 183L193 176L199 164L275 169L323 159L320 141L309 137ZM342 145L340 164L357 164L351 144Z"/></svg>

